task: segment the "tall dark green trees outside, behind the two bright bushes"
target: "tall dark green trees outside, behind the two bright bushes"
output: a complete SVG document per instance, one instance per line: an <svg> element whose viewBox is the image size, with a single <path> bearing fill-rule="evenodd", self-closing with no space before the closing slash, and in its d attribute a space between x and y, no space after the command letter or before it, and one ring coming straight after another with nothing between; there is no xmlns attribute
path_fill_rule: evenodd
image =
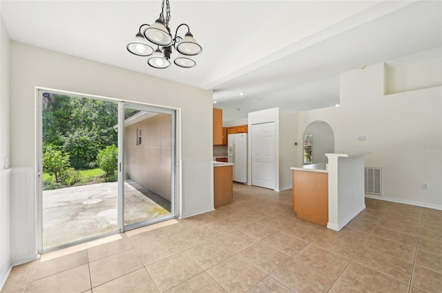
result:
<svg viewBox="0 0 442 293"><path fill-rule="evenodd" d="M70 166L93 168L98 150L116 145L117 103L63 94L43 97L43 141L70 154Z"/></svg>

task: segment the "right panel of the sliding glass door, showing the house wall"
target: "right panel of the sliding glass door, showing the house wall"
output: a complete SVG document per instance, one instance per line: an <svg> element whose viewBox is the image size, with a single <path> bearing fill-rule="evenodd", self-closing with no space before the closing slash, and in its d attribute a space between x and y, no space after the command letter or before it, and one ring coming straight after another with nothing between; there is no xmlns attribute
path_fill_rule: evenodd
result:
<svg viewBox="0 0 442 293"><path fill-rule="evenodd" d="M175 111L124 104L124 224L175 215Z"/></svg>

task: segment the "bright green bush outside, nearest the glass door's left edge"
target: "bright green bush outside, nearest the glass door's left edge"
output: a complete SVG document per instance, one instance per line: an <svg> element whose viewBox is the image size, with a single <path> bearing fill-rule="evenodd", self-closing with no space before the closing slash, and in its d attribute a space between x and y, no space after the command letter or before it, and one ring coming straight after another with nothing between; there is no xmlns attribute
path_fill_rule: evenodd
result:
<svg viewBox="0 0 442 293"><path fill-rule="evenodd" d="M55 175L55 182L60 182L61 174L69 168L69 164L69 154L63 154L53 145L46 145L46 151L43 153L43 168Z"/></svg>

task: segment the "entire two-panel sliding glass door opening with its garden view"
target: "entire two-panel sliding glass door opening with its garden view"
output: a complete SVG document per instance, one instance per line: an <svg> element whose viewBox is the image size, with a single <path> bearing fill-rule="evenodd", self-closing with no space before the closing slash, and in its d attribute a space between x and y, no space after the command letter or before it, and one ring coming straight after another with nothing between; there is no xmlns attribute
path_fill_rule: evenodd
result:
<svg viewBox="0 0 442 293"><path fill-rule="evenodd" d="M175 110L38 90L40 253L175 217Z"/></svg>

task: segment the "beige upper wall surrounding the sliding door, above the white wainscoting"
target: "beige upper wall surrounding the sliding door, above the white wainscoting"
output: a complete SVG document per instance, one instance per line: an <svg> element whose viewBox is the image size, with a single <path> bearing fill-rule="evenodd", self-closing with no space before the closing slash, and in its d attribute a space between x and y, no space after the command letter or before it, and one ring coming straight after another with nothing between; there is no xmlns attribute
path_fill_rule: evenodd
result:
<svg viewBox="0 0 442 293"><path fill-rule="evenodd" d="M15 41L10 57L12 167L35 165L36 86L178 108L181 159L211 159L211 91Z"/></svg>

